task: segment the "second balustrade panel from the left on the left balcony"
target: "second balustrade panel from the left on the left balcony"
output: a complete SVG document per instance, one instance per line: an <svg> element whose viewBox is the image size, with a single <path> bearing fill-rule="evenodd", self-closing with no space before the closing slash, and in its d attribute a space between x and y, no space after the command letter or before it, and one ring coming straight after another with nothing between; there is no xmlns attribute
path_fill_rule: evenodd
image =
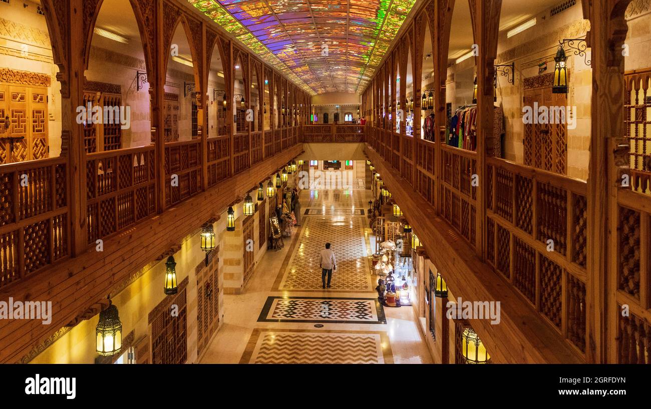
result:
<svg viewBox="0 0 651 409"><path fill-rule="evenodd" d="M156 213L154 145L86 157L88 242Z"/></svg>

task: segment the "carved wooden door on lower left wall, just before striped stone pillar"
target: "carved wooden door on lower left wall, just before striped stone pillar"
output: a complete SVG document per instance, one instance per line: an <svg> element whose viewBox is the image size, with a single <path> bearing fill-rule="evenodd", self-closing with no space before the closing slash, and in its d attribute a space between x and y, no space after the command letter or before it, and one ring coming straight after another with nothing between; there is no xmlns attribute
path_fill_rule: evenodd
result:
<svg viewBox="0 0 651 409"><path fill-rule="evenodd" d="M204 261L197 266L197 352L208 346L219 325L219 247L210 254L208 266Z"/></svg>

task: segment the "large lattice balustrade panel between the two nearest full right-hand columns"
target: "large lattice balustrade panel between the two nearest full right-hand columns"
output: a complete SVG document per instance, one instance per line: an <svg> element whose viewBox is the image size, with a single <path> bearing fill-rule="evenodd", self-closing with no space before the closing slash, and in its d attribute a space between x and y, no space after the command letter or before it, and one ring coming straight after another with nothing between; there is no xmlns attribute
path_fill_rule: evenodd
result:
<svg viewBox="0 0 651 409"><path fill-rule="evenodd" d="M497 158L486 163L486 259L585 354L586 182Z"/></svg>

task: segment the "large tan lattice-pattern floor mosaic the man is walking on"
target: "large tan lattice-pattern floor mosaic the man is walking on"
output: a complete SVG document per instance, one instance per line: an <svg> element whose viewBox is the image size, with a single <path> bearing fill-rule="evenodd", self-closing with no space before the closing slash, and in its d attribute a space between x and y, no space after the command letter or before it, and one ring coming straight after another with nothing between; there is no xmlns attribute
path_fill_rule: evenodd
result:
<svg viewBox="0 0 651 409"><path fill-rule="evenodd" d="M309 216L296 241L296 249L281 268L275 290L322 291L320 255L330 242L337 259L332 272L331 290L374 292L363 230L365 218L353 216Z"/></svg>

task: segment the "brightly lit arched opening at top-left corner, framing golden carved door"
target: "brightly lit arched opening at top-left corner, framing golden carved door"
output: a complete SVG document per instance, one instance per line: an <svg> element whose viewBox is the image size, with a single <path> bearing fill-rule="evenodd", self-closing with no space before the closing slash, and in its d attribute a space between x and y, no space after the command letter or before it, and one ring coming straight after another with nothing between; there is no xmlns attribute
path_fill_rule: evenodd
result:
<svg viewBox="0 0 651 409"><path fill-rule="evenodd" d="M61 84L56 80L59 61L53 53L58 44L51 43L59 39L50 38L44 15L22 3L2 5L15 17L9 17L11 29L3 33L0 164L61 153Z"/></svg>

